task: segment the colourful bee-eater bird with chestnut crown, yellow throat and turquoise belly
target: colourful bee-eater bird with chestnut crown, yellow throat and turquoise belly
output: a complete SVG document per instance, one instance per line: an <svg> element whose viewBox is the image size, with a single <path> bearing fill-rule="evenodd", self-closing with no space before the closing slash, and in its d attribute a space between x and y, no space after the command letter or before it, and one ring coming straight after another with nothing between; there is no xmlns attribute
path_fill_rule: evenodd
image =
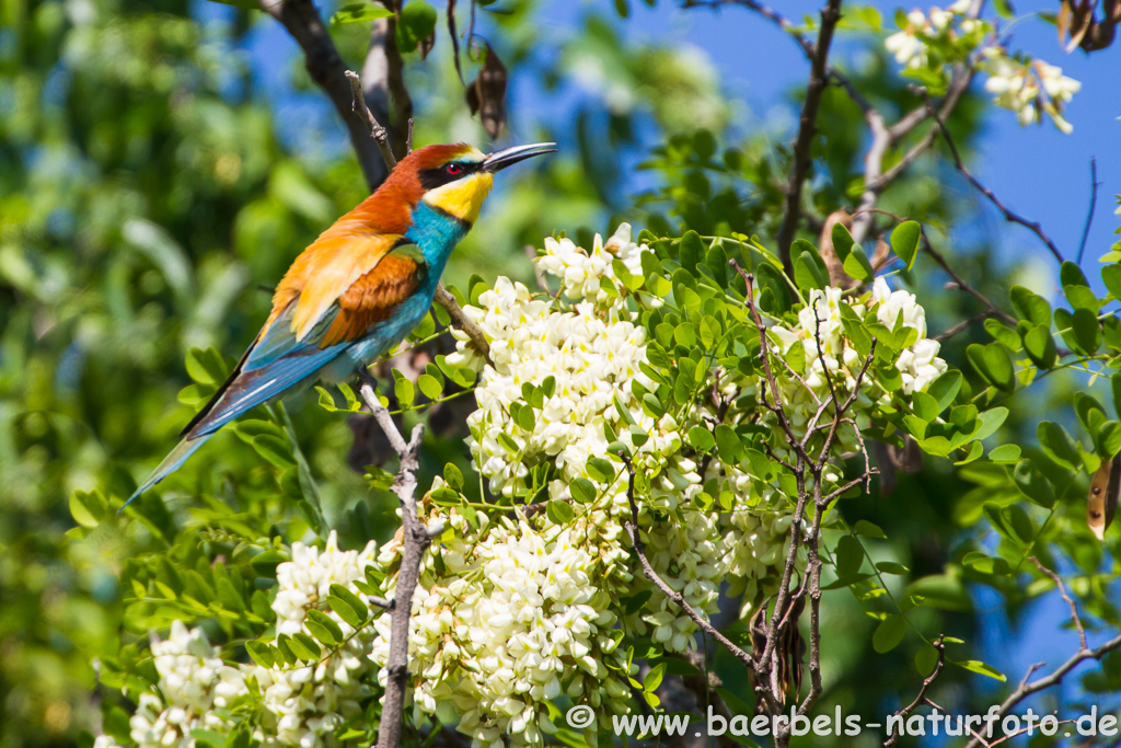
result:
<svg viewBox="0 0 1121 748"><path fill-rule="evenodd" d="M291 264L249 350L129 501L253 407L316 379L342 381L397 345L432 306L447 258L479 218L494 173L555 146L489 156L464 144L427 146L402 158Z"/></svg>

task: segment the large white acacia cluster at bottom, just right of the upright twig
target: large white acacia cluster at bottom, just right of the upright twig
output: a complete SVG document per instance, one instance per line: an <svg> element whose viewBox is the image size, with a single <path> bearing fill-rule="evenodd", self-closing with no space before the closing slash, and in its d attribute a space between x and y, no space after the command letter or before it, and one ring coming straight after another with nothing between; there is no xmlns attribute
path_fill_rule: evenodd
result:
<svg viewBox="0 0 1121 748"><path fill-rule="evenodd" d="M597 560L574 543L572 530L538 532L524 518L490 521L481 514L476 530L456 510L446 519L451 532L426 557L413 599L417 719L436 714L457 722L475 748L502 748L506 740L540 745L564 727L548 710L562 695L604 714L626 712L621 631L613 630L608 593L593 580ZM381 562L392 564L399 551L398 543L387 545ZM389 613L376 628L373 659L385 664Z"/></svg>

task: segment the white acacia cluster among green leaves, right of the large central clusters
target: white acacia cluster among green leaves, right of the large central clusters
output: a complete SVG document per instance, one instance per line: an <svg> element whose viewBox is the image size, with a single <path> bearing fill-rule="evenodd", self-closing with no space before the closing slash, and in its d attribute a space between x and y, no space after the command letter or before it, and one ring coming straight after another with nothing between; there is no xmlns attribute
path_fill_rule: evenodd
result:
<svg viewBox="0 0 1121 748"><path fill-rule="evenodd" d="M787 376L776 377L780 384L784 405L788 406L788 417L796 428L805 426L818 405L830 396L831 380L839 394L852 393L856 375L864 363L864 358L845 335L841 318L841 295L840 288L813 289L809 292L809 303L798 312L798 324L794 329L788 330L778 324L770 327L771 335L778 341L779 353L785 355L791 347L802 347L805 369L800 380ZM851 306L861 317L868 311L874 311L877 320L889 330L895 327L897 320L901 320L904 326L918 333L918 340L904 349L896 360L904 395L925 391L930 382L945 372L946 362L938 358L941 343L926 336L926 311L916 302L915 294L892 292L883 278L877 278L872 284L868 305ZM786 372L779 372L784 373ZM861 393L869 396L869 401L890 397L876 380L871 368L861 381Z"/></svg>

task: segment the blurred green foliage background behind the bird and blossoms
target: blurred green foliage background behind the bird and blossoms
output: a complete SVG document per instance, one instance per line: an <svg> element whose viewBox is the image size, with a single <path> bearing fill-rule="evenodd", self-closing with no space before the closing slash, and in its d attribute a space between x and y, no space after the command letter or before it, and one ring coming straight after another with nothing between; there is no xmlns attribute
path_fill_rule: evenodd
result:
<svg viewBox="0 0 1121 748"><path fill-rule="evenodd" d="M511 102L522 139L575 132L578 147L511 174L446 279L461 287L473 273L528 279L526 243L558 230L587 241L622 218L659 234L734 230L765 241L775 234L778 183L789 166L785 135L730 127L736 102L714 75L678 64L679 50L627 43L626 21L590 15L562 54L549 55L535 41L534 3L509 9L489 22L492 44L516 75L555 91L580 59L597 66L606 89L626 91L636 103L619 109L606 95L586 95L553 117L519 112ZM201 369L192 384L188 352L240 353L288 262L367 193L348 150L278 139L280 102L257 87L240 46L256 24L274 22L262 13L239 10L233 22L204 25L184 0L4 0L0 13L0 748L73 745L82 730L120 726L119 687L130 677L122 663L150 628L179 612L157 603L127 608L135 583L141 590L154 580L189 585L185 570L200 570L217 590L213 627L237 636L239 616L268 612L252 595L254 570L226 556L231 535L298 539L316 518L294 506L311 495L321 497L326 524L340 527L350 547L395 528L389 496L371 490L348 464L352 433L343 414L306 397L290 406L290 424L274 410L254 422L265 425L214 438L145 498L138 515L146 519L75 523L87 505L104 511L102 497L131 492L213 386L207 366L230 364L195 358ZM356 67L367 28L332 30ZM419 108L417 141L483 142L462 103L447 45L426 63L416 55L407 62ZM297 90L315 94L300 65L290 73ZM882 56L853 77L895 109L918 103ZM981 102L967 96L951 123L966 151L981 112ZM852 187L861 144L852 133L862 126L835 89L819 121L818 178L807 197L817 220L859 196L860 185ZM330 127L341 139L334 119ZM643 157L656 188L634 194L622 166L634 155ZM939 249L958 255L963 276L1007 298L988 246L951 248L947 241L972 215L943 192L947 168L944 159L920 163L881 207L921 220ZM928 259L910 280L936 330L980 311L964 294L943 293L945 277ZM975 327L944 355L967 370L965 347L988 341ZM1009 400L1004 438L1030 440L1040 404L1068 403L1074 386L1055 377L1030 406ZM1073 423L1068 408L1059 412ZM261 436L280 445L271 461L262 442L254 443ZM421 486L453 461L471 490L460 436L430 436L424 453ZM985 475L973 478L985 486ZM914 579L936 575L927 587L944 604L924 610L919 625L971 640L966 648L976 646L978 628L966 582L1006 592L1013 617L1026 599L956 563L983 535L973 490L981 489L948 462L928 460L919 475L902 478L891 499L873 495L846 505L851 521L868 518L887 530L877 553L906 563ZM196 498L203 495L214 499ZM1085 527L1069 519L1077 519L1078 505L1066 516L1058 529L1085 541ZM172 571L167 558L176 562ZM1084 558L1087 576L1100 561ZM1104 587L1082 592L1097 599L1095 613L1117 622ZM897 708L919 680L917 645L871 655L877 621L855 599L834 597L823 629L845 635L825 648L828 685L818 709L840 704L871 717ZM726 683L749 693L732 663L717 658L717 666ZM1108 677L1115 674L1099 675ZM989 687L962 671L946 680L958 689L958 704L980 703Z"/></svg>

